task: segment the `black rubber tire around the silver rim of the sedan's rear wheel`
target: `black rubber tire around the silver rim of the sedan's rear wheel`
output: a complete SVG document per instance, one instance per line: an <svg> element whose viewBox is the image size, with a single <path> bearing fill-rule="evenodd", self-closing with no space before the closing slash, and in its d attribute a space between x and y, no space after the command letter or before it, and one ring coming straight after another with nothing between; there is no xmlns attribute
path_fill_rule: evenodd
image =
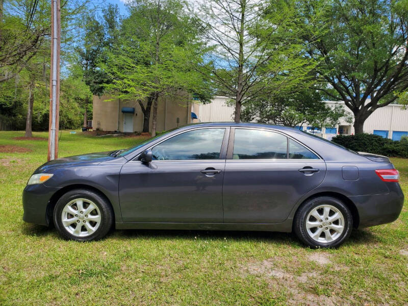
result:
<svg viewBox="0 0 408 306"><path fill-rule="evenodd" d="M334 207L335 209L337 209L343 216L343 220L344 220L344 229L343 232L341 234L336 233L336 231L334 230L330 230L330 225L328 225L328 227L325 227L325 225L323 225L324 223L321 223L322 225L316 226L316 227L312 227L310 229L310 232L312 233L312 231L316 231L313 234L318 234L318 227L322 227L321 231L323 231L325 228L328 228L328 231L331 231L330 233L334 233L334 235L337 235L336 239L331 241L331 242L321 242L321 241L316 241L315 239L313 239L311 237L311 235L308 233L308 229L306 226L306 222L307 222L307 218L309 213L311 213L314 209L321 207L322 205L328 205L331 207ZM319 209L320 212L323 212L323 209ZM330 213L333 213L334 210L331 210ZM334 214L332 214L331 216L333 216ZM310 220L312 222L325 222L325 218L321 219L321 220L316 220L316 218L309 216ZM316 220L316 221L315 221ZM340 221L334 221L334 222L340 222ZM327 223L327 222L325 222ZM333 223L334 225L336 225L335 223ZM347 208L347 206L338 198L335 197L330 197L330 196L320 196L320 197L316 197L316 198L312 198L309 199L305 202L302 203L302 205L299 207L298 211L295 214L295 218L293 221L293 231L295 232L296 236L299 238L300 241L302 241L305 245L308 245L310 247L313 248L317 248L317 247L321 247L321 248L336 248L339 247L341 244L344 243L345 240L347 240L347 238L350 236L351 231L353 228L353 217L351 215L350 210ZM322 233L321 235L319 235L318 237L316 237L316 239L323 239L325 240L325 238L327 237L326 235L331 235L331 234L326 234L326 233ZM320 238L319 238L320 237ZM330 238L329 238L330 239Z"/></svg>

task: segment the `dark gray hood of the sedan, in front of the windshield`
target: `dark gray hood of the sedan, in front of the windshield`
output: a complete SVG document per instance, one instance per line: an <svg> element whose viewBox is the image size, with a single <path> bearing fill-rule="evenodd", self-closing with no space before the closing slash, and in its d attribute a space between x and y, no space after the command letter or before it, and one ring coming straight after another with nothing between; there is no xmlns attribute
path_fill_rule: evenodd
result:
<svg viewBox="0 0 408 306"><path fill-rule="evenodd" d="M55 159L41 165L34 173L45 172L48 169L56 167L69 167L83 164L84 165L100 164L101 162L114 160L115 157L110 156L111 153L112 151L96 152Z"/></svg>

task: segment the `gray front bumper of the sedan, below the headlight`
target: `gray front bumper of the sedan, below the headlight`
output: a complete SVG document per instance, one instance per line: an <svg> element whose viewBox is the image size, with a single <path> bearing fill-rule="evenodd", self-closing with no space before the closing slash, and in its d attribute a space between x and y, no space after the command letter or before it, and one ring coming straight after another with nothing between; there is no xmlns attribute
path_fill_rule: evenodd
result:
<svg viewBox="0 0 408 306"><path fill-rule="evenodd" d="M25 186L22 192L22 207L24 209L22 219L25 222L48 226L48 203L59 189L46 187L44 184Z"/></svg>

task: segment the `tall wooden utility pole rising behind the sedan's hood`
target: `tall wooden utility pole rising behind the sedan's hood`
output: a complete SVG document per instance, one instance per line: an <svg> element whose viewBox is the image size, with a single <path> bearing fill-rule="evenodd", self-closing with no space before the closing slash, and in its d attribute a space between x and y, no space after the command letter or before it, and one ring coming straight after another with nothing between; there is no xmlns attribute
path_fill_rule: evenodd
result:
<svg viewBox="0 0 408 306"><path fill-rule="evenodd" d="M61 2L51 0L51 71L49 86L48 161L58 158L60 120Z"/></svg>

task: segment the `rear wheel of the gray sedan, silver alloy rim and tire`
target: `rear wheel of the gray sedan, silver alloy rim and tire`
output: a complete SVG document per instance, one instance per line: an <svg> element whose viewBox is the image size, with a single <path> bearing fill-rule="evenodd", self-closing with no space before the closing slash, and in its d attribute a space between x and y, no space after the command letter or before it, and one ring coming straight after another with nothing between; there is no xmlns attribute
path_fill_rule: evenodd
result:
<svg viewBox="0 0 408 306"><path fill-rule="evenodd" d="M353 218L339 199L321 196L302 204L295 215L294 232L310 247L338 247L351 234Z"/></svg>

